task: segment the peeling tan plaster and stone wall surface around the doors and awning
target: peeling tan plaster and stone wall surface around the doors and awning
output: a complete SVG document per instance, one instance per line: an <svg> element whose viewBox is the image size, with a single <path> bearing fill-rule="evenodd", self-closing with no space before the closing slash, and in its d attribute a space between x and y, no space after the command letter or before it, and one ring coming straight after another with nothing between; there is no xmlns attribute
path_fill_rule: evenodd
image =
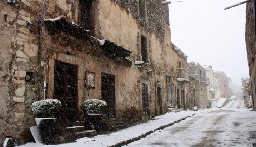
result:
<svg viewBox="0 0 256 147"><path fill-rule="evenodd" d="M161 5L161 0L148 0L147 18L143 20L138 14L137 0L97 2L95 36L131 50L131 67L117 64L118 61L104 56L101 49L90 46L88 41L63 32L49 34L44 24L40 28L39 22L33 21L41 17L43 0L15 0L15 4L0 2L0 145L5 137L17 139L21 143L29 140L29 127L35 125L30 106L44 97L44 81L48 82L47 98L52 98L55 60L78 65L80 110L85 99L101 99L101 73L104 72L116 76L118 118L122 118L127 111L141 112L143 82L149 83L150 116L160 114L156 95L159 85L162 88L162 111L167 111L166 75L172 77L173 86L178 85L178 58L182 60L183 68L187 64L186 58L175 52L171 45L167 5ZM77 0L47 1L44 18L63 16L77 22L76 7ZM26 24L27 20L33 22L32 26ZM141 60L141 35L148 40L149 65L134 65L134 61ZM67 56L66 51L71 55ZM152 74L148 74L149 70L152 70ZM87 91L84 87L85 71L95 72L95 89ZM28 74L31 80L25 81ZM187 95L187 84L180 86L185 87ZM172 100L177 105L174 87Z"/></svg>

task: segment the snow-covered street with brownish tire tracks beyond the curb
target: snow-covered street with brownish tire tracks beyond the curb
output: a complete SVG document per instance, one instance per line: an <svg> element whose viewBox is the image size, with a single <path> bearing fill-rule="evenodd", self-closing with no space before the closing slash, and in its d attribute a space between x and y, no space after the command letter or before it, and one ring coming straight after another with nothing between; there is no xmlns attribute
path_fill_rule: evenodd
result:
<svg viewBox="0 0 256 147"><path fill-rule="evenodd" d="M229 102L221 110L187 118L127 146L252 146L256 143L256 113Z"/></svg>

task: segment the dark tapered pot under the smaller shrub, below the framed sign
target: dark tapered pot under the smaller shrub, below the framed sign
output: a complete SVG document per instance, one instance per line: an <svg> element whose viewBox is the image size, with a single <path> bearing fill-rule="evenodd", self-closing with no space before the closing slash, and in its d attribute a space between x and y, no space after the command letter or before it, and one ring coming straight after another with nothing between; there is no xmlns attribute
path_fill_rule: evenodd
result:
<svg viewBox="0 0 256 147"><path fill-rule="evenodd" d="M93 130L98 133L101 130L102 116L103 114L86 114Z"/></svg>

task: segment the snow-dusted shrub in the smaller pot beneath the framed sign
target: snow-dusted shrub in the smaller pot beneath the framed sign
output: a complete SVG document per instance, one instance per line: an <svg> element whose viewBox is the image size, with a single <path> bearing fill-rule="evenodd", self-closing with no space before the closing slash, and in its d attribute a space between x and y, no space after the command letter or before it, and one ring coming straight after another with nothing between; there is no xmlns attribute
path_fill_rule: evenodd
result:
<svg viewBox="0 0 256 147"><path fill-rule="evenodd" d="M102 100L88 99L84 101L84 108L86 113L98 113L99 111L105 111L107 103Z"/></svg>

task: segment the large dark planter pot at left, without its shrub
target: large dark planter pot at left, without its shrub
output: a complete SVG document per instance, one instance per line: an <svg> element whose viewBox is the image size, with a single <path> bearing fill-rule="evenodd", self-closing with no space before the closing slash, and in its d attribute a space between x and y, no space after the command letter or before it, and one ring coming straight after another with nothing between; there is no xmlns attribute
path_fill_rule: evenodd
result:
<svg viewBox="0 0 256 147"><path fill-rule="evenodd" d="M46 145L56 143L58 134L56 120L57 118L35 118L41 143Z"/></svg>

